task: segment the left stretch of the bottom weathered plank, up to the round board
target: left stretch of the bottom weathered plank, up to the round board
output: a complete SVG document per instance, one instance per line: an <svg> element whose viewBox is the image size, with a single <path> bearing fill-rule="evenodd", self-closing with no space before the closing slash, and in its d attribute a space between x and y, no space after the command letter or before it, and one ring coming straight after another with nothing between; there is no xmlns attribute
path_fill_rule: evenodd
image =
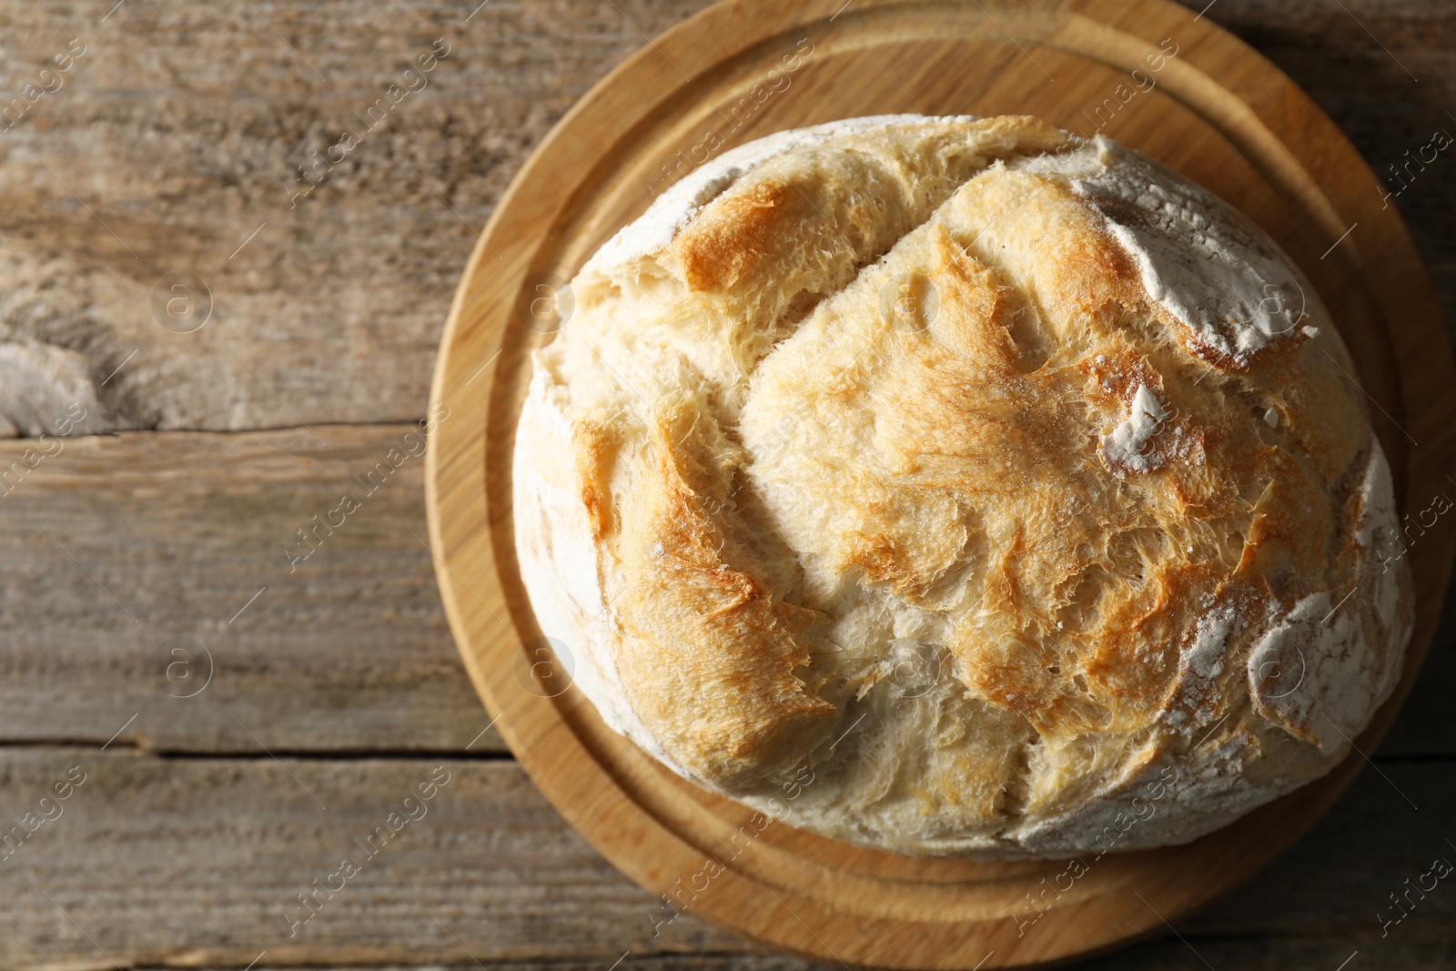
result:
<svg viewBox="0 0 1456 971"><path fill-rule="evenodd" d="M99 951L122 967L243 967L265 949L285 965L741 949L686 917L652 938L654 898L511 761L6 751L0 818L19 823L71 766L84 783L0 863L7 968L103 964ZM380 825L399 831L361 846ZM336 875L345 857L357 873ZM319 891L304 922L316 879L338 892Z"/></svg>

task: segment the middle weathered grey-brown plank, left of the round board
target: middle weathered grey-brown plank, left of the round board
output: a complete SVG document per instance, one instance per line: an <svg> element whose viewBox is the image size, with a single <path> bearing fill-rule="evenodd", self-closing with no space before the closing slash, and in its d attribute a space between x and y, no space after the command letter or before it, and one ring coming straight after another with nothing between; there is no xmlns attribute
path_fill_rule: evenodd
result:
<svg viewBox="0 0 1456 971"><path fill-rule="evenodd" d="M415 432L51 440L33 470L36 443L0 443L0 741L100 744L137 715L119 741L160 750L463 748L489 719L440 607Z"/></svg>

